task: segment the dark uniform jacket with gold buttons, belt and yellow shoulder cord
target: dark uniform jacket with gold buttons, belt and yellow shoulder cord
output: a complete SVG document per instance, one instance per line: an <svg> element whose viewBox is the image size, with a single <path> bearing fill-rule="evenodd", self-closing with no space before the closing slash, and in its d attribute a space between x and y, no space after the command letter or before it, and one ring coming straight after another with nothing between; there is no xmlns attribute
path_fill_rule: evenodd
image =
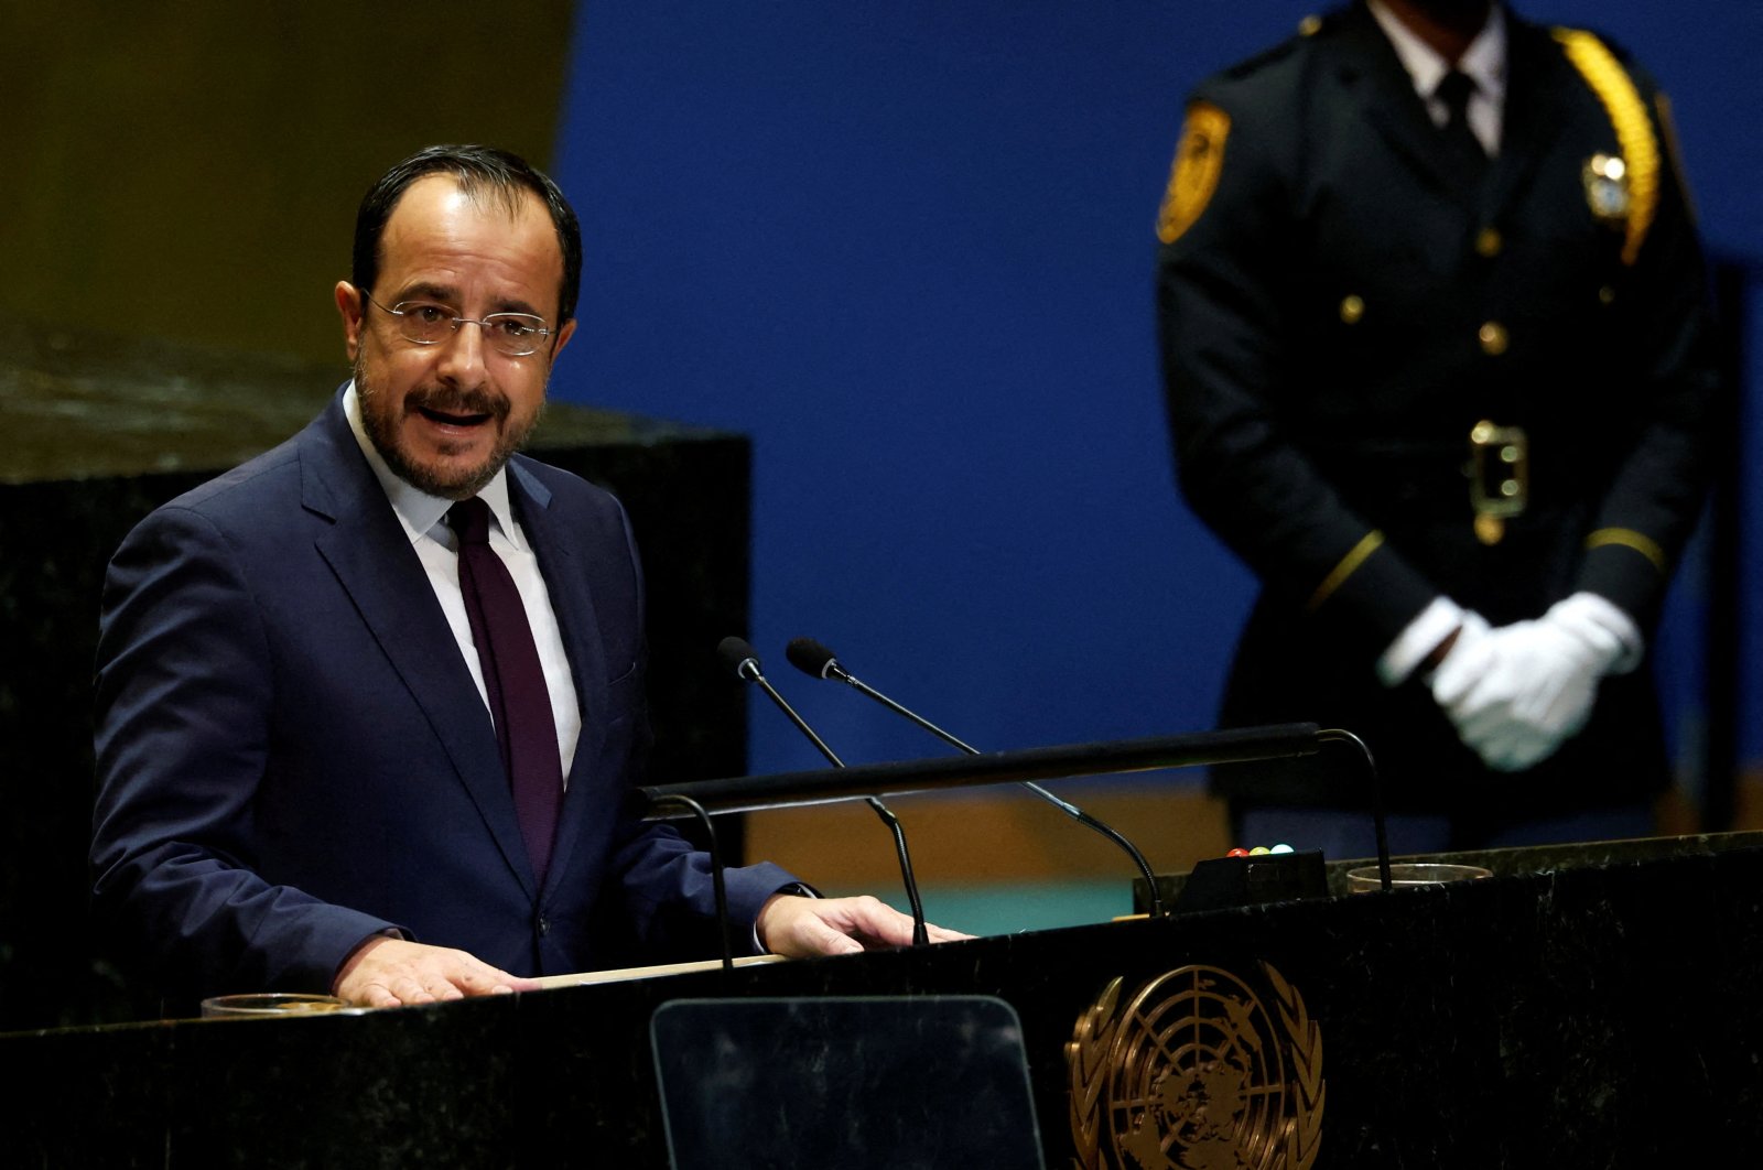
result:
<svg viewBox="0 0 1763 1170"><path fill-rule="evenodd" d="M1363 5L1206 81L1158 224L1178 474L1261 576L1224 724L1363 737L1398 809L1523 819L1666 779L1647 668L1529 774L1488 774L1425 684L1375 661L1435 597L1491 624L1594 590L1648 631L1700 513L1705 277L1663 97L1590 33L1507 12L1484 180ZM1611 160L1618 160L1611 166ZM1617 174L1620 171L1620 174ZM1474 472L1479 423L1497 432ZM1521 474L1520 474L1521 472ZM1500 511L1523 479L1523 511ZM1511 500L1507 500L1511 502ZM1275 803L1358 803L1363 766L1229 768Z"/></svg>

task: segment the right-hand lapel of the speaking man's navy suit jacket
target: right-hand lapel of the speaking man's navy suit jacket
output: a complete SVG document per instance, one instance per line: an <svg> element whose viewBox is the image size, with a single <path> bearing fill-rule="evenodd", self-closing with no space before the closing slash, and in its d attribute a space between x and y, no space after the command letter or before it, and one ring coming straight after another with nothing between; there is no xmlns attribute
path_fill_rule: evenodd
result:
<svg viewBox="0 0 1763 1170"><path fill-rule="evenodd" d="M582 735L577 738L575 759L569 765L569 788L564 793L557 819L557 839L552 844L550 881L568 870L569 851L582 832L585 809L598 803L589 789L596 781L594 761L599 759L606 737L606 655L599 638L599 620L594 599L587 589L587 566L582 564L582 541L564 529L552 509L552 493L539 479L520 465L508 463L508 492L520 527L532 546L550 594L552 611L562 631L564 652L569 655L569 673L575 680L577 705L582 714Z"/></svg>

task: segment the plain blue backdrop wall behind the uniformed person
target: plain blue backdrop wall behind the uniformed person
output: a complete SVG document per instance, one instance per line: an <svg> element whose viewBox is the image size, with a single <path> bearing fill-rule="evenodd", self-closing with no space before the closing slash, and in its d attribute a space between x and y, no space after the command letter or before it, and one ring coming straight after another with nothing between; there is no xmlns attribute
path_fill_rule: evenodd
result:
<svg viewBox="0 0 1763 1170"><path fill-rule="evenodd" d="M1174 492L1151 226L1188 88L1308 11L578 9L555 173L587 266L554 391L753 435L744 633L846 759L934 745L785 666L797 634L982 747L1211 726L1253 581ZM1652 65L1710 243L1763 255L1763 5L1523 11ZM1684 675L1685 583L1661 645ZM1754 618L1738 636L1763 659ZM755 770L818 766L776 712L751 721Z"/></svg>

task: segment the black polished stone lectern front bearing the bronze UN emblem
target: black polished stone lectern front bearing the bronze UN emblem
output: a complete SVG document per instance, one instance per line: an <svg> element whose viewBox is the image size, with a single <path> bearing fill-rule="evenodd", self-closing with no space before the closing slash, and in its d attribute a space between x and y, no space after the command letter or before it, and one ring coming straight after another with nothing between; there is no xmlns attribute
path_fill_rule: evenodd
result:
<svg viewBox="0 0 1763 1170"><path fill-rule="evenodd" d="M0 1096L0 1140L9 1163L53 1166L666 1166L663 1004L991 996L1021 1020L1047 1166L1754 1161L1763 833L1449 860L1493 876L1340 893L1335 862L1328 897L1158 920L434 1008L11 1034L0 1064L21 1087ZM862 1036L822 1040L829 1061L860 1059ZM947 1101L957 1121L980 1107ZM897 1165L874 1121L890 1101L867 1108L874 1145L841 1165Z"/></svg>

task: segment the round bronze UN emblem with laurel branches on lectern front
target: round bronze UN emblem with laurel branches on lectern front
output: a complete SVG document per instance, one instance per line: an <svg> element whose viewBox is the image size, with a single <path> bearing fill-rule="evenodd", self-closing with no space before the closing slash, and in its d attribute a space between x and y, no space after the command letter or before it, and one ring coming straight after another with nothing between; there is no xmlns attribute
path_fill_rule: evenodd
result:
<svg viewBox="0 0 1763 1170"><path fill-rule="evenodd" d="M1257 990L1190 966L1130 996L1116 978L1077 1017L1065 1061L1081 1170L1310 1170L1322 1031L1273 966L1261 976Z"/></svg>

